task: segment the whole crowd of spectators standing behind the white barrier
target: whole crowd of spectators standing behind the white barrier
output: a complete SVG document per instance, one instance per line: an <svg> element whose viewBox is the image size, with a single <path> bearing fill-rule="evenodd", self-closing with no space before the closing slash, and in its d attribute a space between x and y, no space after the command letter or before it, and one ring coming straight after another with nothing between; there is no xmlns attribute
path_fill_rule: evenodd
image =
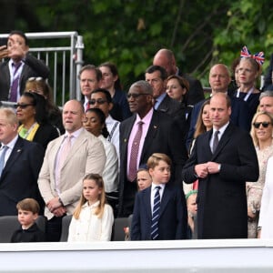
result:
<svg viewBox="0 0 273 273"><path fill-rule="evenodd" d="M215 64L207 98L166 48L127 92L115 64L89 64L82 100L61 111L49 68L28 50L21 31L0 47L0 99L15 103L0 109L0 217L40 234L44 215L47 241L60 240L66 215L69 241L110 240L115 217L132 218L132 240L273 237L273 57L261 89L262 53L244 46L233 80Z"/></svg>

